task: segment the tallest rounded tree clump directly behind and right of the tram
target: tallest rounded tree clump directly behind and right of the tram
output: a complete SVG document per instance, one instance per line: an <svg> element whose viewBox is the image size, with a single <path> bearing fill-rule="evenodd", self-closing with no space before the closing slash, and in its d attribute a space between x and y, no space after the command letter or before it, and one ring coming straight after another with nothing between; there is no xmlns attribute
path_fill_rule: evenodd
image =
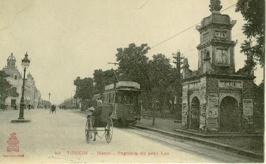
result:
<svg viewBox="0 0 266 164"><path fill-rule="evenodd" d="M157 102L159 107L156 109L162 109L169 100L173 102L176 76L170 59L164 54L156 54L149 60L146 56L149 49L147 44L137 46L134 43L127 48L118 48L118 73L122 80L141 84L144 108L154 107Z"/></svg>

